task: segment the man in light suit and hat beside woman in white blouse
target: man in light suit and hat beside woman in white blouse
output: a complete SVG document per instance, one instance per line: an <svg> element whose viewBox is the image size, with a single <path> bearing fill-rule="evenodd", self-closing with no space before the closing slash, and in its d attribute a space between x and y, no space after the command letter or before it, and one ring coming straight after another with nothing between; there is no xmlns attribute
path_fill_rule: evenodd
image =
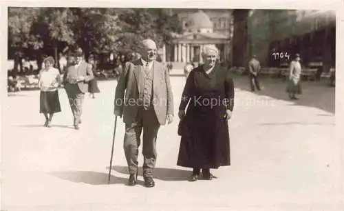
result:
<svg viewBox="0 0 344 211"><path fill-rule="evenodd" d="M85 93L88 92L88 81L94 79L94 75L92 66L83 60L82 50L78 49L76 53L71 54L71 57L74 57L74 63L70 63L67 67L63 81L74 117L74 128L79 130L83 100Z"/></svg>

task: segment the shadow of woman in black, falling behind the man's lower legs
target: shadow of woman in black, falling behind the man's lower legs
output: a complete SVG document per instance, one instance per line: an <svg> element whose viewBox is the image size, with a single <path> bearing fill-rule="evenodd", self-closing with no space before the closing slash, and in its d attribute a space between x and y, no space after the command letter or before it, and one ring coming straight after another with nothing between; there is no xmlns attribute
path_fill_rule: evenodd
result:
<svg viewBox="0 0 344 211"><path fill-rule="evenodd" d="M107 167L109 169L109 167ZM127 166L112 166L112 169L121 174L129 174ZM174 168L154 168L154 178L163 181L186 181L191 175L191 171ZM142 168L139 168L138 175L142 176Z"/></svg>

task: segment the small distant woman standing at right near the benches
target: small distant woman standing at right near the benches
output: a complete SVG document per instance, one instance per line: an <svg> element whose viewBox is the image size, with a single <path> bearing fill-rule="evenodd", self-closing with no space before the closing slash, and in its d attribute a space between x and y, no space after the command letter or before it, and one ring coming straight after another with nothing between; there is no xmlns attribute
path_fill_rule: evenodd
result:
<svg viewBox="0 0 344 211"><path fill-rule="evenodd" d="M295 54L294 61L290 62L289 71L289 82L286 91L290 99L297 100L298 98L295 95L302 94L300 54Z"/></svg>

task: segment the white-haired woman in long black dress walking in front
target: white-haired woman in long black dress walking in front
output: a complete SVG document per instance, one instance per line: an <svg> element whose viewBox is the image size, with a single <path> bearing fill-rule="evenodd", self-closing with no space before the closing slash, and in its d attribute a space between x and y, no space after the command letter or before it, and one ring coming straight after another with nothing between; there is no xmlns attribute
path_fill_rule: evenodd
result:
<svg viewBox="0 0 344 211"><path fill-rule="evenodd" d="M181 135L177 165L193 168L190 181L211 180L211 168L230 165L228 120L232 116L234 84L219 66L215 46L205 46L204 64L186 79L178 116ZM186 105L189 103L187 111Z"/></svg>

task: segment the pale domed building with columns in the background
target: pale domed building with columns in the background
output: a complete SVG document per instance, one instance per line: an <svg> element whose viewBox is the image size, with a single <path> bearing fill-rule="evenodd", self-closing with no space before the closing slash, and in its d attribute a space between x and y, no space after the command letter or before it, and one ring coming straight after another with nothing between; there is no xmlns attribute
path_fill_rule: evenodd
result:
<svg viewBox="0 0 344 211"><path fill-rule="evenodd" d="M202 47L217 46L220 59L229 61L233 24L230 10L173 9L182 22L183 34L175 34L173 45L162 49L163 60L175 63L202 62Z"/></svg>

